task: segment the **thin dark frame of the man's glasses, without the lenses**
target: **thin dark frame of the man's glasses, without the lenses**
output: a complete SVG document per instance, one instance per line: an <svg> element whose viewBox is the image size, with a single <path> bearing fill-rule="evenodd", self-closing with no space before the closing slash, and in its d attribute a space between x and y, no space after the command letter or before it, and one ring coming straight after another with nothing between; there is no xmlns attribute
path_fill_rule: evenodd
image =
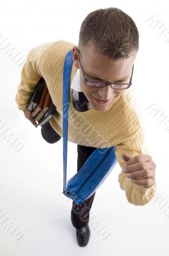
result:
<svg viewBox="0 0 169 256"><path fill-rule="evenodd" d="M85 78L85 72L84 72L84 70L82 68L82 62L80 61L80 50L79 49L78 49L78 60L79 60L79 63L80 63L80 68L82 70L82 75L83 75L83 78L84 78L84 83L87 86L94 87L94 88L102 88L102 87L104 87L106 85L110 85L110 87L112 88L112 84L124 84L124 83L109 83L109 82L106 82L106 81L100 81L100 83L105 83L105 84L103 84L103 86L91 86L91 85L87 84L87 81L89 81L89 82L99 82L99 80L92 80L91 81L91 80ZM134 69L134 64L133 64L133 68L132 68L132 72L131 72L131 77L129 79L129 83L126 83L126 84L128 84L127 88L124 88L124 89L112 88L112 89L115 89L115 90L126 90L126 89L128 89L131 86L131 84L132 84L131 80L132 80L132 76L133 76L133 69Z"/></svg>

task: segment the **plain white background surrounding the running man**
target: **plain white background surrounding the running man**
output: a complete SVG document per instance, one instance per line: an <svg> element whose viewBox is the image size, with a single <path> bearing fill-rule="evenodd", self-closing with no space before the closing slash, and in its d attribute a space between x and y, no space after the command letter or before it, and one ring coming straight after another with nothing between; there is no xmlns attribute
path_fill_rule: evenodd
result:
<svg viewBox="0 0 169 256"><path fill-rule="evenodd" d="M23 58L31 48L55 40L78 44L80 25L89 12L117 7L136 22L140 33L140 49L135 60L135 88L147 147L156 163L158 189L156 196L144 206L129 204L117 181L121 172L116 166L92 205L92 221L99 221L102 232L91 227L91 238L80 248L71 224L71 200L62 192L62 139L49 144L17 108L15 95L20 83L22 65L0 50L0 127L18 138L20 151L5 140L1 128L0 216L8 218L23 236L17 241L4 225L0 225L0 254L32 255L168 255L168 1L4 1L1 0L0 34ZM160 20L163 28L154 28L151 19ZM156 22L154 21L154 22ZM155 24L155 23L154 23ZM163 34L160 35L160 33ZM154 104L154 116L147 110ZM163 117L166 116L165 121ZM166 124L165 124L166 123ZM77 172L77 145L68 143L68 177ZM1 218L1 219L2 219ZM106 239L103 233L107 229Z"/></svg>

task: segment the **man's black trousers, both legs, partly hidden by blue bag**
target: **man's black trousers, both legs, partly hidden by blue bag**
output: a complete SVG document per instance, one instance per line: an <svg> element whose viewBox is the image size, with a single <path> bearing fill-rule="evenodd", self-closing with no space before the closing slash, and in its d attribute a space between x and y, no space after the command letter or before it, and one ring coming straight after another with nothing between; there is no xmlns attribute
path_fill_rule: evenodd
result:
<svg viewBox="0 0 169 256"><path fill-rule="evenodd" d="M49 122L41 127L41 136L48 143L55 143L61 139L61 136L55 132ZM87 158L96 148L77 145L77 172L82 168ZM96 192L94 192L82 204L72 202L71 207L71 223L75 228L82 228L89 223L89 212L92 207Z"/></svg>

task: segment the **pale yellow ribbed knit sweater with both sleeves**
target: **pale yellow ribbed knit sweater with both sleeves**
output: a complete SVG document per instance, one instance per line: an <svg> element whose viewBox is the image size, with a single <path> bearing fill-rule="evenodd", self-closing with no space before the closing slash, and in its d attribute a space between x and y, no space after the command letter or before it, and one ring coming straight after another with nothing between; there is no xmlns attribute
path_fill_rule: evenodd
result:
<svg viewBox="0 0 169 256"><path fill-rule="evenodd" d="M57 113L50 119L50 125L62 136L62 75L64 59L68 51L76 44L58 40L38 45L29 51L26 63L22 67L21 81L18 85L15 101L18 109L24 110L40 77L47 83L50 96L57 108ZM77 46L77 45L76 45ZM76 67L72 66L70 84ZM131 92L119 95L112 107L105 112L89 109L79 112L74 109L70 88L70 106L68 120L68 141L87 147L112 147L121 168L125 162L124 153L134 157L138 154L149 154L144 143L142 125L133 108ZM133 205L147 204L156 193L156 182L146 188L131 182L126 173L119 174L119 184L126 192L128 202Z"/></svg>

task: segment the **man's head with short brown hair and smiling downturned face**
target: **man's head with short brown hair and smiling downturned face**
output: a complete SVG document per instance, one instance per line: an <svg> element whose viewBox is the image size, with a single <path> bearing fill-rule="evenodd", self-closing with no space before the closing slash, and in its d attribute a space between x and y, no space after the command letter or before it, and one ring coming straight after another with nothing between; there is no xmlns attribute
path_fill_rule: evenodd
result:
<svg viewBox="0 0 169 256"><path fill-rule="evenodd" d="M107 111L114 100L128 90L124 89L128 85L122 84L129 83L138 38L135 22L119 8L96 10L82 22L78 48L72 49L73 63L80 68L80 85L93 109ZM87 80L109 82L114 88L88 86L83 72Z"/></svg>

